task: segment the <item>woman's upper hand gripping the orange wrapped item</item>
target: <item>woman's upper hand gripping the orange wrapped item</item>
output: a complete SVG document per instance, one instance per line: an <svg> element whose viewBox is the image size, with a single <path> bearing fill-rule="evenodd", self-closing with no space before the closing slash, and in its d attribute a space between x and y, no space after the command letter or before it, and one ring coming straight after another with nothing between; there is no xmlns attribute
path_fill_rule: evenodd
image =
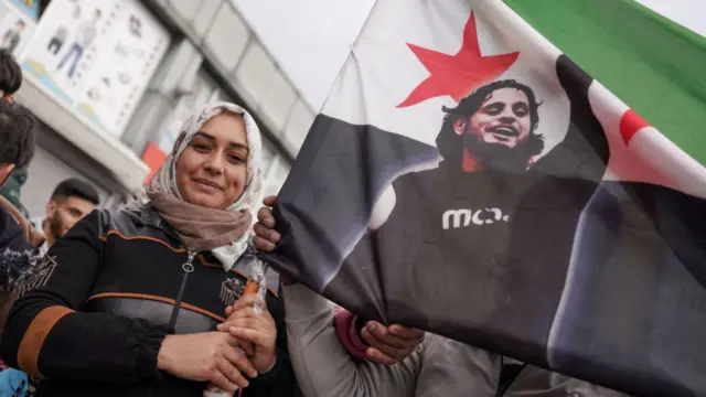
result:
<svg viewBox="0 0 706 397"><path fill-rule="evenodd" d="M259 304L257 296L244 296L235 302L233 308L226 309L228 319L218 324L217 329L243 342L252 343L254 353L250 362L260 374L265 374L271 371L277 362L275 354L277 326L267 308L261 305L260 312L255 313L255 304Z"/></svg>

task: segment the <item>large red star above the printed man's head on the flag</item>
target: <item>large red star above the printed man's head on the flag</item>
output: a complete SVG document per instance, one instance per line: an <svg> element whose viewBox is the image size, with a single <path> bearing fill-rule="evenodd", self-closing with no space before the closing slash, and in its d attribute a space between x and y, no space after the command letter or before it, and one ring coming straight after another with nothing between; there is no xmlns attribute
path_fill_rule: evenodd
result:
<svg viewBox="0 0 706 397"><path fill-rule="evenodd" d="M475 17L466 22L463 44L456 55L443 54L407 43L429 72L429 77L409 94L398 108L413 106L429 98L448 95L457 103L475 87L498 78L512 66L520 52L483 56L478 44Z"/></svg>

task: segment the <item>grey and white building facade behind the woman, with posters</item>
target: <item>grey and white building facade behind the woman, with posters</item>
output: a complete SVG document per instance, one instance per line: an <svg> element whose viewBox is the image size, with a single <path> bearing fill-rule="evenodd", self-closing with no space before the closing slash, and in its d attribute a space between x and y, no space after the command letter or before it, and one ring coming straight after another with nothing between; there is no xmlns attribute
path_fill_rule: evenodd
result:
<svg viewBox="0 0 706 397"><path fill-rule="evenodd" d="M104 205L122 202L211 100L255 116L276 193L314 117L228 0L0 0L0 46L22 66L18 101L40 120L22 189L32 215L68 176L98 186Z"/></svg>

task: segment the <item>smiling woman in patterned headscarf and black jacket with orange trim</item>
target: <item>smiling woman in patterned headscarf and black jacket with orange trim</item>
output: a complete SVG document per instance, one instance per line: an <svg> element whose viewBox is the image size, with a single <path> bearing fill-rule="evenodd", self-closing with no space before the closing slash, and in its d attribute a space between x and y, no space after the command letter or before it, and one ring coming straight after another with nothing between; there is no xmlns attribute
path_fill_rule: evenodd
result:
<svg viewBox="0 0 706 397"><path fill-rule="evenodd" d="M259 154L250 115L210 104L184 125L147 204L95 211L52 246L2 339L6 362L41 379L38 396L195 397L206 382L293 394L274 293L259 314L253 300L228 310L225 331L240 337L216 330L249 273Z"/></svg>

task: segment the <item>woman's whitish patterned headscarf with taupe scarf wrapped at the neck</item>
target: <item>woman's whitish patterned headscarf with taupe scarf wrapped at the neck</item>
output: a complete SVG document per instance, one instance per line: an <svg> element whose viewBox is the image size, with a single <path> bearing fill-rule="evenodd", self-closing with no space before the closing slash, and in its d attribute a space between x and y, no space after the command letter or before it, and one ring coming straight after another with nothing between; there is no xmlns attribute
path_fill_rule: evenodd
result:
<svg viewBox="0 0 706 397"><path fill-rule="evenodd" d="M176 162L194 135L212 117L223 111L243 115L247 133L248 158L245 190L225 210L206 208L186 203L176 186ZM261 194L261 140L253 117L229 103L207 104L196 117L182 127L174 148L147 186L150 204L179 234L189 249L211 250L228 271L243 255L250 239L252 210Z"/></svg>

